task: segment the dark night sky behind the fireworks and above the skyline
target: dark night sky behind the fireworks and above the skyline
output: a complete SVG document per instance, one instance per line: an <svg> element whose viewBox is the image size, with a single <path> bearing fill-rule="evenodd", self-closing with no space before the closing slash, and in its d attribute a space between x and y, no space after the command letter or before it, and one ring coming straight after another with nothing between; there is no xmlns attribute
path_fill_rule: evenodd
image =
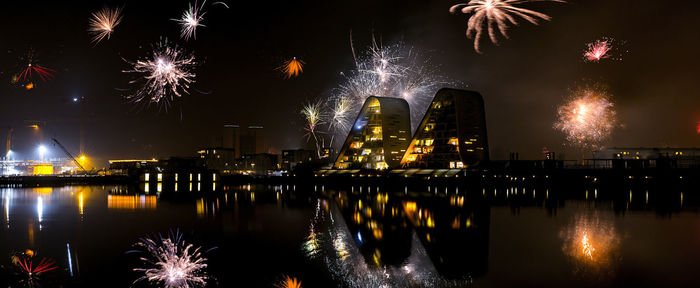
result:
<svg viewBox="0 0 700 288"><path fill-rule="evenodd" d="M556 107L569 88L606 84L623 127L609 146L698 146L700 121L700 2L579 0L523 5L552 16L539 26L522 23L499 46L484 42L477 54L464 35L467 15L451 15L453 1L227 1L207 4L197 39L179 39L171 21L188 1L13 1L0 11L0 126L15 130L13 150L34 153L56 137L99 159L192 155L215 144L224 124L264 125L274 151L298 148L299 110L305 100L335 87L353 68L349 46L403 39L428 51L442 73L485 98L493 158L509 151L538 158L542 147L566 152L552 129ZM234 4L235 3L235 4ZM124 7L110 40L94 46L86 32L90 13ZM524 21L523 21L524 22ZM584 63L585 43L602 36L626 41L622 61ZM144 57L167 37L200 59L191 94L168 113L122 98L130 88L122 60ZM32 48L58 72L30 91L9 84L19 57ZM304 74L285 80L274 71L296 56ZM203 93L200 93L203 92ZM84 98L72 103L73 97ZM182 120L181 120L182 115ZM43 136L26 126L43 121ZM570 150L570 149L569 149ZM568 151L575 157L575 152Z"/></svg>

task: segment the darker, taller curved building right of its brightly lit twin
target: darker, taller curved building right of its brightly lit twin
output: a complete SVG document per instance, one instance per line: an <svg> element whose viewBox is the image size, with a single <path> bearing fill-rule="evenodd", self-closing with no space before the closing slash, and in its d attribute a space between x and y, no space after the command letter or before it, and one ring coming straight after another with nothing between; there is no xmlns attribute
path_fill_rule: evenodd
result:
<svg viewBox="0 0 700 288"><path fill-rule="evenodd" d="M473 91L438 91L401 160L403 167L470 168L489 160L484 100Z"/></svg>

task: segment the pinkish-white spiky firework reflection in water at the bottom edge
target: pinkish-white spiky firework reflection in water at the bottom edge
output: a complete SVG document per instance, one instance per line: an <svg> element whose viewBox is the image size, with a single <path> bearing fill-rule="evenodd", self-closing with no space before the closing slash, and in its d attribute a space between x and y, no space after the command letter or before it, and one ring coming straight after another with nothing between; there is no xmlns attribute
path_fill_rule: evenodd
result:
<svg viewBox="0 0 700 288"><path fill-rule="evenodd" d="M200 248L182 240L182 234L170 233L159 239L142 238L136 246L143 249L146 256L140 259L148 268L134 268L144 275L134 283L147 280L166 288L204 287L208 279L207 259Z"/></svg>

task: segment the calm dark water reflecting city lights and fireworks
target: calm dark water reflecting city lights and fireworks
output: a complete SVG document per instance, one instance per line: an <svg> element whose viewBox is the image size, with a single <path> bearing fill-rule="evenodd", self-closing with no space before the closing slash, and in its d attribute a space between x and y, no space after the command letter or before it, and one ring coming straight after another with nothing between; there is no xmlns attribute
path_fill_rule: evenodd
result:
<svg viewBox="0 0 700 288"><path fill-rule="evenodd" d="M693 191L348 188L0 188L0 285L32 249L59 266L43 287L129 287L134 243L179 231L209 287L700 286Z"/></svg>

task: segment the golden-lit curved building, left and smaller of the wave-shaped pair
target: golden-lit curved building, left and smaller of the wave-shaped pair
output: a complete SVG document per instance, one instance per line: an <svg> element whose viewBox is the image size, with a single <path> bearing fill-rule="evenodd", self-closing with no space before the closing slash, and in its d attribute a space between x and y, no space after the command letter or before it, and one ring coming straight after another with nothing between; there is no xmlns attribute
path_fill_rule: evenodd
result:
<svg viewBox="0 0 700 288"><path fill-rule="evenodd" d="M411 137L406 100L369 97L333 165L336 169L396 168Z"/></svg>

